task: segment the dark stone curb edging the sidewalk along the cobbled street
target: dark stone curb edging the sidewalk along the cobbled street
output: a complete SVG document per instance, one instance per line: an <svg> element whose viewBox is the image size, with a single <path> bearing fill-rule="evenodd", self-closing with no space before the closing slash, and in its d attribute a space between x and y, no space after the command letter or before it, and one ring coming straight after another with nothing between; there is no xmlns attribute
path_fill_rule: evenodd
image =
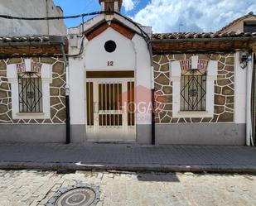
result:
<svg viewBox="0 0 256 206"><path fill-rule="evenodd" d="M256 165L143 165L143 164L79 164L58 162L0 162L0 170L118 170L153 172L217 172L255 173Z"/></svg>

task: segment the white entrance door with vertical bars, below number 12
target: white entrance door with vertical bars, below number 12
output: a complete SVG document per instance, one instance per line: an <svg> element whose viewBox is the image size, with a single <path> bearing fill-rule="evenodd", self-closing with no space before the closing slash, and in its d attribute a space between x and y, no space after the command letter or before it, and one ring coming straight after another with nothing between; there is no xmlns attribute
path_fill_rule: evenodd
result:
<svg viewBox="0 0 256 206"><path fill-rule="evenodd" d="M88 79L89 141L135 141L134 79Z"/></svg>

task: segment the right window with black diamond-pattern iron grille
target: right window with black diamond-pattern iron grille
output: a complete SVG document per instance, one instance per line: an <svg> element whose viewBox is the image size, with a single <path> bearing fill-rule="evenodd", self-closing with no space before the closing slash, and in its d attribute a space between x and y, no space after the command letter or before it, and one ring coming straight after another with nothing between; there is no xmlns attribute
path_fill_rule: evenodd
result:
<svg viewBox="0 0 256 206"><path fill-rule="evenodd" d="M181 111L205 111L205 71L187 70L181 75Z"/></svg>

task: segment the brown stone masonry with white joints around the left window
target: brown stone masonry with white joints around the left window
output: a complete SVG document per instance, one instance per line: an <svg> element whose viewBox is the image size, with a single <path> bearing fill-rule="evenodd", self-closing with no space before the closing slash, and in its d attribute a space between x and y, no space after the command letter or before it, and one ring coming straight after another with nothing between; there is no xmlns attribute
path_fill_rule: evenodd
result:
<svg viewBox="0 0 256 206"><path fill-rule="evenodd" d="M51 119L12 119L11 84L7 82L7 65L21 63L22 58L0 60L0 123L65 123L65 69L61 58L41 57L34 61L52 65Z"/></svg>

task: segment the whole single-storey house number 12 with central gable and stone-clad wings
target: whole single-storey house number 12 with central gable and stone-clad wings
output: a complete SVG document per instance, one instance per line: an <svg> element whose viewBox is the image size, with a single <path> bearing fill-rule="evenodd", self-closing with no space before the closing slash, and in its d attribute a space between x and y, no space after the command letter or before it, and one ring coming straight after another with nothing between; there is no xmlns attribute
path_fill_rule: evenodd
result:
<svg viewBox="0 0 256 206"><path fill-rule="evenodd" d="M51 36L38 53L2 38L0 141L253 142L256 34L152 34L119 15L122 1L99 2L69 44Z"/></svg>

